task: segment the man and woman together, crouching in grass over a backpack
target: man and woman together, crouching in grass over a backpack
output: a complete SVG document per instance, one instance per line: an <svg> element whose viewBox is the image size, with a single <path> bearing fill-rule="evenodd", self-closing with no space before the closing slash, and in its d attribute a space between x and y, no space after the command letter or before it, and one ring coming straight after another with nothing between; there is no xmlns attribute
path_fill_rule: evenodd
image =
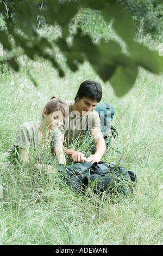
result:
<svg viewBox="0 0 163 256"><path fill-rule="evenodd" d="M94 110L102 98L102 87L92 80L84 81L77 92L74 102L64 102L52 97L42 112L42 120L23 123L17 131L15 141L6 153L11 162L20 159L26 163L33 152L37 152L34 168L43 167L41 152L51 148L59 164L66 164L65 153L74 162L99 162L105 152L105 141L101 132L98 113ZM73 141L85 137L86 127L89 129L96 145L95 154L87 159L84 154L71 149ZM68 146L67 146L68 145ZM48 165L49 172L57 170Z"/></svg>

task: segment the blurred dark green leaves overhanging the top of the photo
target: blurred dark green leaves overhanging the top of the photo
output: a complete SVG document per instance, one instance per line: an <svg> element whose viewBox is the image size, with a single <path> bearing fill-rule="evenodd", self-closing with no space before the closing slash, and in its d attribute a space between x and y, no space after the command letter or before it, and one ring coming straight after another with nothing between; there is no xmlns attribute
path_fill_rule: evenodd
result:
<svg viewBox="0 0 163 256"><path fill-rule="evenodd" d="M157 51L151 51L134 41L133 18L115 0L6 0L0 1L0 6L0 41L3 48L11 51L12 37L16 46L20 46L30 59L40 56L51 61L61 77L64 76L64 70L55 56L47 51L52 49L52 42L40 37L37 31L38 17L44 17L49 25L57 23L61 26L62 37L53 43L65 55L70 69L76 72L77 63L83 63L86 59L103 81L109 80L117 96L123 96L134 85L139 66L155 74L163 72L163 57ZM114 40L101 39L98 45L93 44L90 36L83 34L80 28L74 34L73 43L68 44L66 39L70 34L70 22L81 7L100 10L105 22L114 21L114 29L126 43L127 53L123 53L121 46ZM4 29L3 24L7 29ZM9 63L16 71L20 68L15 56L3 59L3 62Z"/></svg>

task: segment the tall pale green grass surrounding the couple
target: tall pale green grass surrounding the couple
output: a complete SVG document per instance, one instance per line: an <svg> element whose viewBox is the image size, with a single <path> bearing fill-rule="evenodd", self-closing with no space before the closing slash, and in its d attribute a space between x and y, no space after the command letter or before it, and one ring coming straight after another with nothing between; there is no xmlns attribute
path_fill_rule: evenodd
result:
<svg viewBox="0 0 163 256"><path fill-rule="evenodd" d="M51 33L51 31L47 31ZM57 58L66 72L59 78L50 63L20 57L21 70L7 67L0 74L0 244L2 245L161 245L162 244L162 111L163 80L140 69L135 86L122 98L115 96L89 63L72 73L64 57ZM36 79L35 87L27 73ZM105 162L116 162L137 175L130 197L91 190L81 197L60 189L56 175L33 175L32 168L3 168L2 154L24 121L40 120L52 96L74 99L80 83L99 81L102 102L115 108L112 125L119 134L120 153L108 151Z"/></svg>

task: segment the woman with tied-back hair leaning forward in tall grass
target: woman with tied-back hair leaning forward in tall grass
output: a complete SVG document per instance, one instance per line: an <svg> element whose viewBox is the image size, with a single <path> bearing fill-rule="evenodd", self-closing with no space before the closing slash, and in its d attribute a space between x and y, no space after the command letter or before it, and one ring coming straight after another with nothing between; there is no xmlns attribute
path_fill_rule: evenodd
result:
<svg viewBox="0 0 163 256"><path fill-rule="evenodd" d="M25 122L18 128L15 141L5 156L12 163L18 160L27 163L31 156L35 156L34 168L39 170L45 166L42 162L43 156L50 148L55 153L58 163L65 164L61 132L58 127L66 117L68 117L66 103L57 97L52 97L43 109L41 121ZM56 172L51 165L46 166L49 172Z"/></svg>

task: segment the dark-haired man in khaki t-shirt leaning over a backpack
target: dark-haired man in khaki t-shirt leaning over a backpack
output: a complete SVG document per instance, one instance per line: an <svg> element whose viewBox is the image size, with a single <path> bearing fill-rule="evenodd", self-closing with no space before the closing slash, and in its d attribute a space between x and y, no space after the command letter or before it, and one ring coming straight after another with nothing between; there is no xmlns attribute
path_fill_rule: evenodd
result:
<svg viewBox="0 0 163 256"><path fill-rule="evenodd" d="M77 92L74 102L66 102L69 107L69 118L65 120L61 129L62 142L65 145L65 153L72 157L74 162L90 163L99 162L105 152L106 146L101 132L101 123L98 113L94 110L102 98L102 87L92 80L84 81ZM84 140L85 130L89 129L93 142L95 142L95 154L87 159L82 152L74 151L71 145L80 138ZM65 141L64 141L65 140Z"/></svg>

